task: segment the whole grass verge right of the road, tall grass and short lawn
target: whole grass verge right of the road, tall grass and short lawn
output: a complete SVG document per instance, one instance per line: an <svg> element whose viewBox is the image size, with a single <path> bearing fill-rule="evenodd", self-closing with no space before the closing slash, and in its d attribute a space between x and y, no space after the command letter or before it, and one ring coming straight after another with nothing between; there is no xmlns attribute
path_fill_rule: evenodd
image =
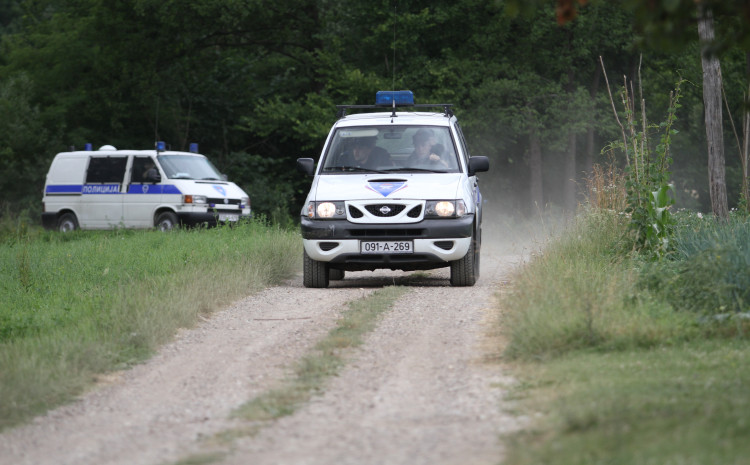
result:
<svg viewBox="0 0 750 465"><path fill-rule="evenodd" d="M502 299L505 357L520 380L511 398L535 419L508 440L506 463L746 463L747 304L678 298L741 295L740 272L697 264L727 250L719 230L736 243L742 228L681 222L681 244L707 245L656 263L622 253L624 228L619 215L585 215Z"/></svg>

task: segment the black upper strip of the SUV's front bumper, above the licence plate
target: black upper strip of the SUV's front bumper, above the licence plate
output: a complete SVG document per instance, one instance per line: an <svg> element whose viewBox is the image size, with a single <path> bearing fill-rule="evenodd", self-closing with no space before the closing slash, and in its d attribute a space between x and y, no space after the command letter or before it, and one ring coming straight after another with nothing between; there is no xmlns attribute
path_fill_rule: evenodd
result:
<svg viewBox="0 0 750 465"><path fill-rule="evenodd" d="M301 217L304 239L443 239L471 237L474 215L430 219L419 223L360 224L347 220L311 220Z"/></svg>

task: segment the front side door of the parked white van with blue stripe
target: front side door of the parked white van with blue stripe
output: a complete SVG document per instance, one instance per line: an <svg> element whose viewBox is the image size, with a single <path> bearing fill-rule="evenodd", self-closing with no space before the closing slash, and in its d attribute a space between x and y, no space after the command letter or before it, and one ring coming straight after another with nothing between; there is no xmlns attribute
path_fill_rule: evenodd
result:
<svg viewBox="0 0 750 465"><path fill-rule="evenodd" d="M154 211L161 204L161 173L154 159L147 155L133 157L130 184L123 201L123 214L129 226L150 228L154 225Z"/></svg>

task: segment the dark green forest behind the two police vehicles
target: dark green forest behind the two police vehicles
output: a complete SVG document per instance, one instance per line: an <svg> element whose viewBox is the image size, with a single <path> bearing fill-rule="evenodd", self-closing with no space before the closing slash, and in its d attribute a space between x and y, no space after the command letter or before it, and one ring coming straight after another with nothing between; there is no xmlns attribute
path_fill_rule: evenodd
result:
<svg viewBox="0 0 750 465"><path fill-rule="evenodd" d="M729 112L748 89L744 2L714 9ZM560 5L576 7L561 12ZM293 222L337 104L410 89L453 103L483 188L511 212L573 210L620 138L616 101L642 85L662 118L680 80L672 142L677 206L711 211L701 47L693 0L0 0L0 214L38 221L55 153L184 150L198 142L256 213ZM557 6L557 11L556 11ZM575 19L572 19L575 16ZM567 21L562 19L567 18ZM666 19L665 19L666 18ZM638 77L641 80L638 80ZM636 87L637 89L637 87ZM724 110L726 112L726 109ZM729 207L742 170L724 117Z"/></svg>

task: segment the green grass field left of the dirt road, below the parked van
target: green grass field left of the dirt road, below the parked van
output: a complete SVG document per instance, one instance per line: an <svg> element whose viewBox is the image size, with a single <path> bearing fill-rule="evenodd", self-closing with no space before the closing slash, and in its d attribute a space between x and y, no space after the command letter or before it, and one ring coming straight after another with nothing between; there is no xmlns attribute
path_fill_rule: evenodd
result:
<svg viewBox="0 0 750 465"><path fill-rule="evenodd" d="M299 237L262 220L158 231L0 228L0 429L144 360L178 328L296 272Z"/></svg>

